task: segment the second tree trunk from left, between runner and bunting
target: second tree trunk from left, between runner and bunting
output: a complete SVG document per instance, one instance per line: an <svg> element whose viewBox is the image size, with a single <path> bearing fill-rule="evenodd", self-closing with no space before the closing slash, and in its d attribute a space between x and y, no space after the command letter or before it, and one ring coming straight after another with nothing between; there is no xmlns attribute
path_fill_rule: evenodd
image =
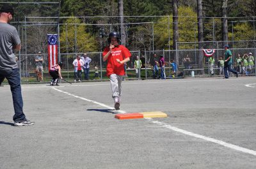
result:
<svg viewBox="0 0 256 169"><path fill-rule="evenodd" d="M179 55L177 50L179 50L179 27L178 27L178 0L172 1L172 15L173 15L173 50L175 50L175 60L179 65Z"/></svg>

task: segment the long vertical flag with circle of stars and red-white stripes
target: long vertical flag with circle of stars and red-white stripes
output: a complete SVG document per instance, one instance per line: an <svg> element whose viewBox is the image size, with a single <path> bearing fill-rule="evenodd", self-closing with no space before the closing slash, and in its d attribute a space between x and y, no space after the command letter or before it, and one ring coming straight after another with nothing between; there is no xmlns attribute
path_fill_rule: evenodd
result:
<svg viewBox="0 0 256 169"><path fill-rule="evenodd" d="M48 40L48 68L58 62L58 34L47 34Z"/></svg>

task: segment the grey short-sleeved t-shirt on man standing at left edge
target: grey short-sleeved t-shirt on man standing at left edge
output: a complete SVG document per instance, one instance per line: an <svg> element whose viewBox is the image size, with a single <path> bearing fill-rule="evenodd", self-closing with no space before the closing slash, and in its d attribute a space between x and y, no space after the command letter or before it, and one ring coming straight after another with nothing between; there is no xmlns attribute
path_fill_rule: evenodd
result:
<svg viewBox="0 0 256 169"><path fill-rule="evenodd" d="M18 68L13 50L19 44L20 38L16 28L0 22L0 70Z"/></svg>

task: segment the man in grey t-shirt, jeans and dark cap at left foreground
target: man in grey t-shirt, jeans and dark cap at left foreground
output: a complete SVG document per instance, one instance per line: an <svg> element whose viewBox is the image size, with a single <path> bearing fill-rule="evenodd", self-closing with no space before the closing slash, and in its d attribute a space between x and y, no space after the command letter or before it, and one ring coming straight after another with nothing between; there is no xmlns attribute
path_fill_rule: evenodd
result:
<svg viewBox="0 0 256 169"><path fill-rule="evenodd" d="M0 9L0 85L4 78L10 84L15 113L14 126L29 126L34 122L29 121L23 112L19 68L13 52L13 50L19 51L21 44L17 29L9 24L13 17L12 6L4 4Z"/></svg>

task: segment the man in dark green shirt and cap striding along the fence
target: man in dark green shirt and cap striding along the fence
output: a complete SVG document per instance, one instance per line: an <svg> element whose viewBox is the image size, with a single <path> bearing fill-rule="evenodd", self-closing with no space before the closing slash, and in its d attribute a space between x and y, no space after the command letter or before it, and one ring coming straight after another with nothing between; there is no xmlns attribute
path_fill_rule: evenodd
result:
<svg viewBox="0 0 256 169"><path fill-rule="evenodd" d="M236 77L238 77L239 73L236 70L233 70L231 68L231 65L232 65L232 53L228 49L229 46L225 45L224 48L225 48L225 63L224 63L224 75L225 75L225 78L228 78L228 71L231 71L232 73L234 73L236 75Z"/></svg>

